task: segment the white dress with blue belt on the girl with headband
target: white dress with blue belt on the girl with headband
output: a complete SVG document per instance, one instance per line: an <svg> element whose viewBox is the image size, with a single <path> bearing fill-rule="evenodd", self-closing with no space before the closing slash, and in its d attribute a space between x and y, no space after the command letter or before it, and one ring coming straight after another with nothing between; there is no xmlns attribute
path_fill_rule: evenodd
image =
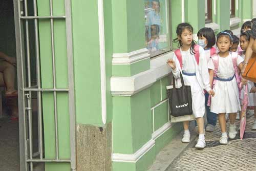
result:
<svg viewBox="0 0 256 171"><path fill-rule="evenodd" d="M244 59L239 55L237 65L243 62ZM214 70L214 62L212 59L208 63L208 68ZM231 55L227 57L219 56L219 69L217 76L219 78L228 79L233 77L234 67ZM213 113L237 113L241 111L239 89L236 77L231 81L216 80L214 87L215 96L211 97L210 111Z"/></svg>

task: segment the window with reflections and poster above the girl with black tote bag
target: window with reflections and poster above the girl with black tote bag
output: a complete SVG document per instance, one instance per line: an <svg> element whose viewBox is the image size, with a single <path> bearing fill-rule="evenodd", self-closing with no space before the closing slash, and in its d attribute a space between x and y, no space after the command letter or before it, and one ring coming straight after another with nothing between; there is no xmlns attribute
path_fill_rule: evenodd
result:
<svg viewBox="0 0 256 171"><path fill-rule="evenodd" d="M145 44L151 57L170 51L169 0L144 0Z"/></svg>

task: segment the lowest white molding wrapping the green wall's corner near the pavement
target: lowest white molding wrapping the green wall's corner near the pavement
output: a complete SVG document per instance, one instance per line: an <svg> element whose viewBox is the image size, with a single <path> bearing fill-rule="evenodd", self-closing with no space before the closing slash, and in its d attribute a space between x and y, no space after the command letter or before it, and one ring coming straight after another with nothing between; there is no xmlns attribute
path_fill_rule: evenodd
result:
<svg viewBox="0 0 256 171"><path fill-rule="evenodd" d="M155 146L155 140L162 136L166 131L168 131L174 124L167 122L160 129L155 131L152 134L152 139L149 140L146 144L144 144L138 151L134 154L112 154L112 161L114 162L129 162L136 163L142 156L144 156L152 147Z"/></svg>

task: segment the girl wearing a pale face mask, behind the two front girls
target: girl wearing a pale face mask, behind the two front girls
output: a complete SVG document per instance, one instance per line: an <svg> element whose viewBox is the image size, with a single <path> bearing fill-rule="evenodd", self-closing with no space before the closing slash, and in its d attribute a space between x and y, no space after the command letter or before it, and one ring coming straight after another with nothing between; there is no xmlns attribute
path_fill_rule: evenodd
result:
<svg viewBox="0 0 256 171"><path fill-rule="evenodd" d="M216 54L215 45L216 38L214 34L214 30L211 28L202 28L197 33L198 36L198 45L204 48L205 57L207 63L210 60L210 56ZM214 131L214 127L217 123L217 114L210 112L209 106L207 105L209 94L205 92L205 108L206 108L206 117L207 117L207 125L205 127L206 131Z"/></svg>

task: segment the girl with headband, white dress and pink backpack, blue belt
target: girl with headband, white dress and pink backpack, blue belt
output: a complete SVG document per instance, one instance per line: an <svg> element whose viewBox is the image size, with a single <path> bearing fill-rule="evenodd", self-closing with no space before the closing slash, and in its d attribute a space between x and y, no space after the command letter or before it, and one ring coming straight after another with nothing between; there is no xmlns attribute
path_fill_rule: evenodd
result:
<svg viewBox="0 0 256 171"><path fill-rule="evenodd" d="M211 98L210 111L219 115L221 126L220 144L227 144L226 118L229 114L229 138L236 137L237 112L241 111L238 82L238 67L242 69L243 58L236 52L229 52L232 46L232 35L220 32L217 35L219 53L211 56L208 63L210 82L213 82L216 95Z"/></svg>

